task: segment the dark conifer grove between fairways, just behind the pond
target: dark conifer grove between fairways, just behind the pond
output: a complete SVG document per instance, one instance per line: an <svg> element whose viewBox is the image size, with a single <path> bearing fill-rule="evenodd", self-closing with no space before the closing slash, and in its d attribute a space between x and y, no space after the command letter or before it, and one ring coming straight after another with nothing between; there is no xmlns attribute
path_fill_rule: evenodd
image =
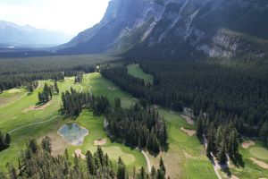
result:
<svg viewBox="0 0 268 179"><path fill-rule="evenodd" d="M94 115L105 114L110 106L109 101L105 97L95 97L88 93L80 93L71 88L70 91L63 92L63 113L66 115L80 115L82 109L92 109Z"/></svg>

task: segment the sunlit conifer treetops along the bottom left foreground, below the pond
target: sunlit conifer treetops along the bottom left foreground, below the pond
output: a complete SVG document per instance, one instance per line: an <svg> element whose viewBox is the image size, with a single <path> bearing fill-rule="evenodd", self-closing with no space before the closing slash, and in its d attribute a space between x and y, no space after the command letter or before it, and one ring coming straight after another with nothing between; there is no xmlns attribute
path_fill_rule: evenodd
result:
<svg viewBox="0 0 268 179"><path fill-rule="evenodd" d="M165 166L160 159L159 169L152 167L152 172L147 174L142 166L138 173L133 169L130 174L121 158L114 164L107 154L98 146L95 153L88 151L86 158L82 159L77 154L71 158L65 149L63 156L51 155L51 140L46 137L41 145L32 139L27 143L27 149L21 151L18 165L15 167L7 163L7 174L0 171L1 179L26 179L26 178L59 178L59 179L165 179ZM73 161L73 162L72 162ZM168 177L169 178L169 177Z"/></svg>

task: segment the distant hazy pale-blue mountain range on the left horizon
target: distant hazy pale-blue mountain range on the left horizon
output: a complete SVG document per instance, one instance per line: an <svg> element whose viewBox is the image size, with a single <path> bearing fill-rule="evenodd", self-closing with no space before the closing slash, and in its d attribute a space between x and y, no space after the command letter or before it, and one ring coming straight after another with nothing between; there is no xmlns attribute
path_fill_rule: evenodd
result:
<svg viewBox="0 0 268 179"><path fill-rule="evenodd" d="M0 21L2 47L46 47L63 44L70 39L70 36L60 31L37 29L29 25L21 26L10 21Z"/></svg>

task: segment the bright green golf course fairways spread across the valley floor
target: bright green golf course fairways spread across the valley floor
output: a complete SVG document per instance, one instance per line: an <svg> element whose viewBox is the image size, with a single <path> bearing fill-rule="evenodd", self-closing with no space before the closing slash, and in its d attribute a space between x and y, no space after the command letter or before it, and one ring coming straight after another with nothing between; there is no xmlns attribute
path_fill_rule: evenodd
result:
<svg viewBox="0 0 268 179"><path fill-rule="evenodd" d="M91 111L84 110L76 119L64 117L59 112L61 95L54 96L52 102L45 108L36 109L34 106L38 102L38 92L43 89L45 82L53 84L53 81L39 81L38 90L30 95L23 89L7 90L0 94L0 130L11 132L13 140L10 148L0 152L1 170L6 169L7 162L17 164L16 158L30 138L41 141L46 135L52 139L54 155L63 154L64 149L68 149L71 154L77 152L85 155L87 150L96 150L96 142L102 142L102 149L108 153L109 157L113 161L121 157L130 168L130 172L132 166L147 168L147 159L138 149L130 149L110 140L104 130L104 116L94 116ZM89 91L96 96L106 96L112 105L114 98L121 98L121 106L124 108L138 102L138 98L133 98L123 92L97 72L85 74L81 84L75 84L74 78L65 78L65 81L59 82L60 94L65 90L70 90L71 87L77 91ZM147 153L150 165L158 167L159 159L163 157L167 175L171 178L217 178L214 167L205 156L205 148L194 134L196 124L188 124L180 113L163 107L154 107L160 115L163 115L168 125L169 149L156 158ZM74 121L87 128L89 132L83 144L78 147L67 143L57 133L63 124ZM193 134L190 134L191 132ZM267 170L256 166L248 159L252 157L249 149L240 149L245 158L245 167L231 167L230 171L239 178L250 178L247 176L257 178L268 175ZM222 175L222 177L226 176Z"/></svg>

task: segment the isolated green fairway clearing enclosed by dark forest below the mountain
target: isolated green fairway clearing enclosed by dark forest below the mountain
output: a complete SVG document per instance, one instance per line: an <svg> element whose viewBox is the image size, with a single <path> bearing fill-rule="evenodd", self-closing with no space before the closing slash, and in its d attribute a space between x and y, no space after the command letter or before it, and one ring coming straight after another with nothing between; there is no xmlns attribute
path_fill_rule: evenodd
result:
<svg viewBox="0 0 268 179"><path fill-rule="evenodd" d="M139 67L139 64L128 65L128 72L131 76L143 79L146 83L153 83L154 81L154 77L150 74L143 72Z"/></svg>

